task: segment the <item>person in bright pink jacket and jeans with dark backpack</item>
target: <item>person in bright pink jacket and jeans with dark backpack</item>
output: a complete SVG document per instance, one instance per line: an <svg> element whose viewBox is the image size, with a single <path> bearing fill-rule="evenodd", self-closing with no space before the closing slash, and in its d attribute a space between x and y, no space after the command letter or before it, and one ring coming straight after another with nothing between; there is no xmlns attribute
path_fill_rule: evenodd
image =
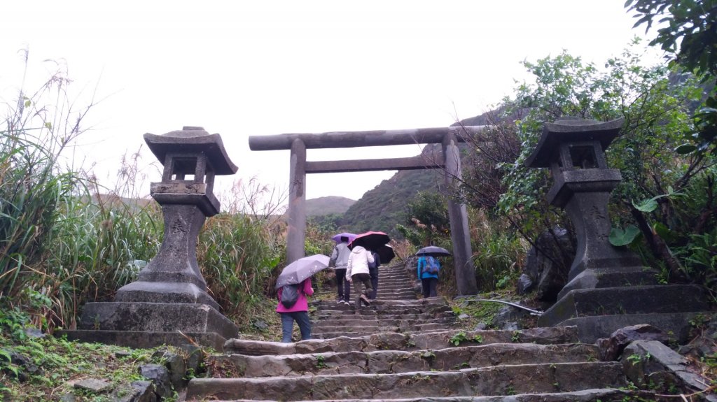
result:
<svg viewBox="0 0 717 402"><path fill-rule="evenodd" d="M281 332L283 343L291 343L294 321L299 325L301 340L311 339L311 320L309 320L309 303L306 296L313 295L311 278L306 278L297 285L284 285L279 288L279 303L276 312L281 315Z"/></svg>

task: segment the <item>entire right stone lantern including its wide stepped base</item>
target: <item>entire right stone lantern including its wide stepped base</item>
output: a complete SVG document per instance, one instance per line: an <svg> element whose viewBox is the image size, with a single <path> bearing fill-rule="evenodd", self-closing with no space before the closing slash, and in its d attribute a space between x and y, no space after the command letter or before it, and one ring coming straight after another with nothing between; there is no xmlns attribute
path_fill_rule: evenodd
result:
<svg viewBox="0 0 717 402"><path fill-rule="evenodd" d="M642 266L626 247L610 244L607 204L622 180L609 169L605 149L623 119L597 122L561 119L545 124L527 167L548 167L554 185L547 198L566 210L577 237L569 282L557 302L538 318L540 326L576 325L582 342L607 338L628 325L650 324L687 339L689 320L708 310L696 285L658 285L655 271Z"/></svg>

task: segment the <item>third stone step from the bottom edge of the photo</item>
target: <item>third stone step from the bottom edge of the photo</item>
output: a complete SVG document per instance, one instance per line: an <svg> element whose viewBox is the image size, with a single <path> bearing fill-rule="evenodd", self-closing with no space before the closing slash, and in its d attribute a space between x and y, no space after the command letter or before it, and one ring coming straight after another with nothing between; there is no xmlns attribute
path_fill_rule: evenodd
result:
<svg viewBox="0 0 717 402"><path fill-rule="evenodd" d="M210 356L209 375L271 377L329 374L395 374L409 371L451 371L501 364L578 363L598 360L596 345L493 343L439 350L374 350L372 352L308 353L283 356ZM211 368L219 368L216 372Z"/></svg>

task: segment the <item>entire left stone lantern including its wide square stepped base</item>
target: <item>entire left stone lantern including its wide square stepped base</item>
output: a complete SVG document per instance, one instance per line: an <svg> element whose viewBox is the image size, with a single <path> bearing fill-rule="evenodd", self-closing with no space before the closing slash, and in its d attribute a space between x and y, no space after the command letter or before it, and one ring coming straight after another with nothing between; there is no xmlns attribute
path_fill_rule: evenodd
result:
<svg viewBox="0 0 717 402"><path fill-rule="evenodd" d="M164 166L150 194L162 207L164 237L159 252L138 280L117 291L113 303L87 303L80 331L68 337L133 347L186 343L184 336L221 349L237 326L219 313L206 293L196 263L196 243L206 217L219 213L212 192L216 175L237 171L219 134L184 127L163 135L145 134Z"/></svg>

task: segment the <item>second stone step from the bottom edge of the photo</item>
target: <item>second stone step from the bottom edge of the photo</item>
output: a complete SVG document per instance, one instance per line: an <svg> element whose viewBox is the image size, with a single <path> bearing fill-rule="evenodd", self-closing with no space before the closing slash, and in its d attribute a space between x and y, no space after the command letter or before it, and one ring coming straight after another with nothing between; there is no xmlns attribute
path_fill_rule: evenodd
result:
<svg viewBox="0 0 717 402"><path fill-rule="evenodd" d="M346 398L431 398L556 393L627 386L619 362L549 363L413 371L270 378L193 378L186 401L256 399L279 401Z"/></svg>

